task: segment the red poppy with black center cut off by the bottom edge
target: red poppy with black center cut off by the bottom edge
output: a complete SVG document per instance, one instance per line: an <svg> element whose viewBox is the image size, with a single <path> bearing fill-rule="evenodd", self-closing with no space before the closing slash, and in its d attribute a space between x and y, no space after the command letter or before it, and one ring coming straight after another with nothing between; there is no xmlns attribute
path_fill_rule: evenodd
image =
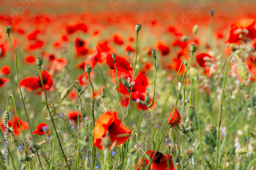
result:
<svg viewBox="0 0 256 170"><path fill-rule="evenodd" d="M153 160L153 162L152 162L153 170L168 170L168 169L176 170L174 168L174 164L172 161L172 155L168 154L167 156L165 156L162 153L157 152L156 155L154 156L155 151L148 151L146 154L150 155L150 158ZM139 162L137 163L137 166L139 165L140 161L141 160L139 160ZM169 161L169 168L167 166L167 161ZM148 163L149 163L149 161L147 159L144 159L145 167L147 166ZM137 168L137 166L135 166L135 168ZM141 162L141 165L138 169L145 168L145 167L143 167L143 162ZM148 169L151 169L151 166Z"/></svg>

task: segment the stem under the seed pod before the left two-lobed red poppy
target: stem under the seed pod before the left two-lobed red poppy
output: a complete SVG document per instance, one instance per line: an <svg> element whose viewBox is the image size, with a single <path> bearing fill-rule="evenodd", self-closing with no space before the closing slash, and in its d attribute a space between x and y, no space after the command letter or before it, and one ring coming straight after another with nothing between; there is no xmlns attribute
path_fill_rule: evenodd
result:
<svg viewBox="0 0 256 170"><path fill-rule="evenodd" d="M46 89L45 89L44 82L42 81L41 67L38 67L38 70L39 70L39 75L40 75L40 80L41 80L42 88L44 89L44 92L45 92L46 107L47 107L48 113L49 113L49 115L50 115L50 117L51 117L52 124L53 124L54 130L55 130L55 134L56 134L56 136L57 136L57 138L58 138L58 141L59 141L59 147L60 147L61 152L62 152L62 154L63 154L63 156L64 156L64 158L65 158L65 161L66 161L66 163L67 163L68 169L71 170L71 169L70 169L70 166L69 166L69 163L68 163L68 160L67 160L67 157L66 157L66 155L65 155L65 153L64 153L64 151L63 151L63 149L62 149L61 142L60 142L60 139L59 139L59 135L58 135L57 129L56 129L56 127L55 127L55 124L54 124L54 121L53 121L53 118L52 118L52 113L51 113L51 111L50 111L50 109L49 109L49 106L48 106Z"/></svg>

